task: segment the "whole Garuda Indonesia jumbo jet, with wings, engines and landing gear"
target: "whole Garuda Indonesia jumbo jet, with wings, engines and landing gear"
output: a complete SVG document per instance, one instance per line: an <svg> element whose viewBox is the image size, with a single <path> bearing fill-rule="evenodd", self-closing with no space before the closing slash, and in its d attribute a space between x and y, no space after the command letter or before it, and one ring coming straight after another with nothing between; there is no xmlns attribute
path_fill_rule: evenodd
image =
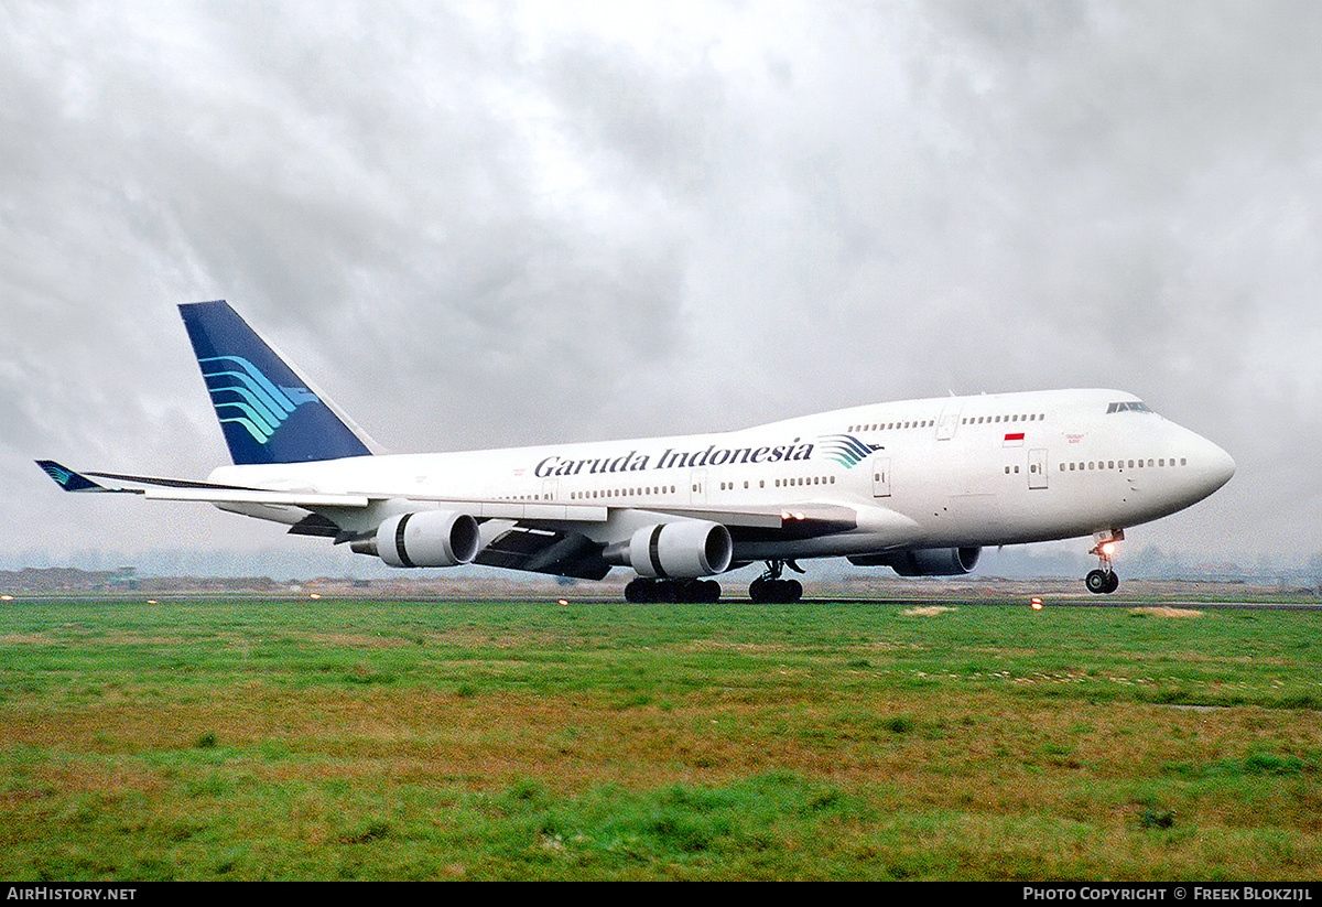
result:
<svg viewBox="0 0 1322 907"><path fill-rule="evenodd" d="M903 576L972 571L984 547L1091 538L1114 592L1125 530L1203 500L1235 460L1118 390L870 403L738 431L386 454L223 300L178 307L233 464L206 481L37 464L66 492L202 501L393 567L636 576L628 602L717 602L710 576L845 557ZM128 485L102 484L128 483Z"/></svg>

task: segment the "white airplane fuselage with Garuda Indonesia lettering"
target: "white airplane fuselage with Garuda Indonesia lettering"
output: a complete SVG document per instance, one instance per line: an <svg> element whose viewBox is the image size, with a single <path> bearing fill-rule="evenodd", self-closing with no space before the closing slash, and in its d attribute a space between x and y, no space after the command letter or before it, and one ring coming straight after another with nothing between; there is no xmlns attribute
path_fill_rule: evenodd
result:
<svg viewBox="0 0 1322 907"><path fill-rule="evenodd" d="M857 514L846 532L736 539L735 562L750 562L1105 533L1187 508L1233 471L1225 451L1132 394L1060 390L875 403L710 435L229 465L210 480L366 494L371 508L330 514L362 530L419 500L481 501L476 516L543 522L595 508L602 518L575 528L604 543L687 518L678 512L839 505Z"/></svg>

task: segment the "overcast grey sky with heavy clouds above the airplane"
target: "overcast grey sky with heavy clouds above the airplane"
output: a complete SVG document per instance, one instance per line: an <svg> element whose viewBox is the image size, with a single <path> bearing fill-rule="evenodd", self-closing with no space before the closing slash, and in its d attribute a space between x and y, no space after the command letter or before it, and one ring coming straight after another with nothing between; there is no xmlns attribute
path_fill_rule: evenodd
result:
<svg viewBox="0 0 1322 907"><path fill-rule="evenodd" d="M209 299L395 451L1116 387L1239 467L1130 546L1306 561L1319 45L1310 1L3 0L0 563L320 557L32 463L225 463Z"/></svg>

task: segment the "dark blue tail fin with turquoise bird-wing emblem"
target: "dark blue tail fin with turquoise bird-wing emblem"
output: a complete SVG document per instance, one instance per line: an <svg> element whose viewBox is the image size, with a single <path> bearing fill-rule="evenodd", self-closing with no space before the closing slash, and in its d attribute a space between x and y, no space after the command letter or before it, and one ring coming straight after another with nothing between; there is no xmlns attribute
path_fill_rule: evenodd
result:
<svg viewBox="0 0 1322 907"><path fill-rule="evenodd" d="M238 464L366 456L350 427L225 300L178 307L197 364Z"/></svg>

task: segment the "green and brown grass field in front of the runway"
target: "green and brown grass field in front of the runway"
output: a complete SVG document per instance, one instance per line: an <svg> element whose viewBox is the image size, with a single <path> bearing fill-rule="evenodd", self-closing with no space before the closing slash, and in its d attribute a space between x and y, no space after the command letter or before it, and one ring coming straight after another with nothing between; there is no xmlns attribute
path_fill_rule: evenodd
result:
<svg viewBox="0 0 1322 907"><path fill-rule="evenodd" d="M5 879L1322 877L1322 615L16 600Z"/></svg>

